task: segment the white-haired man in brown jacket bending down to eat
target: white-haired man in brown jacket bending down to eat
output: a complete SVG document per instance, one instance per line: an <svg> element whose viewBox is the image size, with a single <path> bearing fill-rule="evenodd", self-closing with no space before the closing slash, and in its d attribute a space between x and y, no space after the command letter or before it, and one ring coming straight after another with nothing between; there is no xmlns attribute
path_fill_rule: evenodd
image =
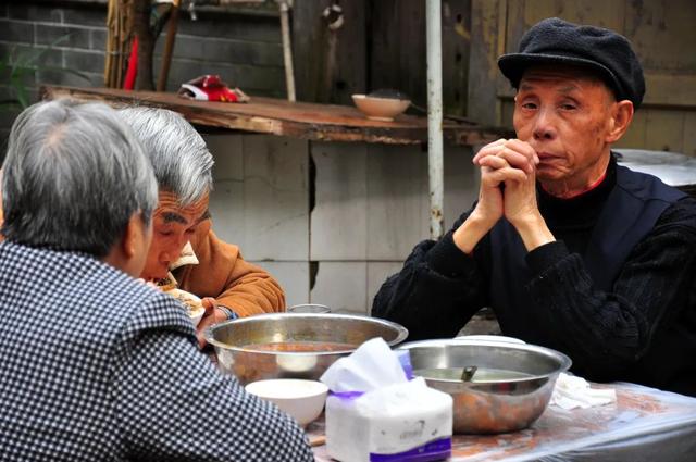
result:
<svg viewBox="0 0 696 462"><path fill-rule="evenodd" d="M126 108L120 114L145 147L159 185L152 244L140 277L169 279L202 299L207 310L198 325L201 346L202 332L212 324L285 311L278 283L211 229L214 161L201 136L169 110Z"/></svg>

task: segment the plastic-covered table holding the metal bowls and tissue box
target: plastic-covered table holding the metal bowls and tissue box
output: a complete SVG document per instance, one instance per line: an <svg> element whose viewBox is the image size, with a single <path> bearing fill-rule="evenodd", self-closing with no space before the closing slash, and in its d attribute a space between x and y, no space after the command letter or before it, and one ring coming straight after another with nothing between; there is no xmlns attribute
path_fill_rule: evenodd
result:
<svg viewBox="0 0 696 462"><path fill-rule="evenodd" d="M596 386L596 385L593 385ZM696 398L633 384L611 384L617 403L563 410L549 407L531 428L506 435L456 435L452 462L473 461L694 461ZM321 442L324 423L307 428ZM324 445L319 462L332 461Z"/></svg>

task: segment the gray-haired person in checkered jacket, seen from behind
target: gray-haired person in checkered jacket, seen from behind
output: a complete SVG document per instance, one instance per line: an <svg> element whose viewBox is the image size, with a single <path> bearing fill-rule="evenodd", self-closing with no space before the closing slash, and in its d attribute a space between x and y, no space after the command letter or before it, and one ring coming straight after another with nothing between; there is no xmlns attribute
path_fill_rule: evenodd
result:
<svg viewBox="0 0 696 462"><path fill-rule="evenodd" d="M101 103L35 104L3 165L0 461L311 461L302 429L197 348L133 276L158 190Z"/></svg>

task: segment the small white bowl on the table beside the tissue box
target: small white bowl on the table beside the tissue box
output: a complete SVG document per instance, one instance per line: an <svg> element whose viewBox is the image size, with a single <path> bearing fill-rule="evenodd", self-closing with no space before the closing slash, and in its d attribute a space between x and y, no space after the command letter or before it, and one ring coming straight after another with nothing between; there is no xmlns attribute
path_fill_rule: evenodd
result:
<svg viewBox="0 0 696 462"><path fill-rule="evenodd" d="M252 382L245 388L247 392L273 402L301 426L319 417L328 392L328 387L321 382L299 378Z"/></svg>

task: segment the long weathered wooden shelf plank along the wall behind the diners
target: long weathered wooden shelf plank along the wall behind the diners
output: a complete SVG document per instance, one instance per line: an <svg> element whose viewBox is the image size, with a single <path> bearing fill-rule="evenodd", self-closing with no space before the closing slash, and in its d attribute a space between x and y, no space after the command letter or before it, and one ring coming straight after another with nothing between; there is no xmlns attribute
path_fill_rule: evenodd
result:
<svg viewBox="0 0 696 462"><path fill-rule="evenodd" d="M249 103L191 101L174 93L127 91L111 88L44 87L45 99L73 97L104 101L113 105L151 105L182 113L189 122L203 126L273 134L325 141L368 141L414 145L427 140L427 120L399 115L393 122L365 118L353 107L290 103L254 97ZM475 145L497 139L502 128L469 122L448 121L445 139L457 145Z"/></svg>

